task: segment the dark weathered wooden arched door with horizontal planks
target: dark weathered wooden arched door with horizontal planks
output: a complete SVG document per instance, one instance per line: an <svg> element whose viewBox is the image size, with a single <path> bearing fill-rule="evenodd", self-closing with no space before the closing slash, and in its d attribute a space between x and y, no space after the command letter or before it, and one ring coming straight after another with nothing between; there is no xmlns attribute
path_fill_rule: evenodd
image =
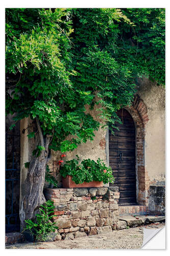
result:
<svg viewBox="0 0 170 256"><path fill-rule="evenodd" d="M109 164L115 178L110 186L119 187L119 204L135 204L135 126L127 110L119 110L117 115L123 123L116 123L119 130L113 130L115 135L109 131Z"/></svg>

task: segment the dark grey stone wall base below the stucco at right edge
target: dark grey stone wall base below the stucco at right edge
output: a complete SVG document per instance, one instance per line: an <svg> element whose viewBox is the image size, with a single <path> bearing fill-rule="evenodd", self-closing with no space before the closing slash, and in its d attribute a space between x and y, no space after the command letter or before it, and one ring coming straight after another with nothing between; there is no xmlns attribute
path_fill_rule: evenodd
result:
<svg viewBox="0 0 170 256"><path fill-rule="evenodd" d="M154 215L165 215L165 186L150 186L149 211Z"/></svg>

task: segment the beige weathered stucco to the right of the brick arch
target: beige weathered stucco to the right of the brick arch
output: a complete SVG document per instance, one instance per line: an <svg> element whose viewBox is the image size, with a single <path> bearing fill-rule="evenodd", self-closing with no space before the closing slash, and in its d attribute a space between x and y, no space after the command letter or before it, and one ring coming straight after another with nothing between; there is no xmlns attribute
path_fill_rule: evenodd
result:
<svg viewBox="0 0 170 256"><path fill-rule="evenodd" d="M165 89L147 78L138 80L138 95L148 109L145 126L145 168L150 184L165 183Z"/></svg>

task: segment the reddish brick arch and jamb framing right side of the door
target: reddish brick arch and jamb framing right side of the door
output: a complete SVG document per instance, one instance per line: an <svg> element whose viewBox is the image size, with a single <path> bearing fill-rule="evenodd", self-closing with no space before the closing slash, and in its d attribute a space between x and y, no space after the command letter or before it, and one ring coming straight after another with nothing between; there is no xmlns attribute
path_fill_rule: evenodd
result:
<svg viewBox="0 0 170 256"><path fill-rule="evenodd" d="M135 95L131 106L125 108L132 116L136 129L136 197L140 205L148 205L149 177L145 169L144 138L145 125L149 121L147 106L139 95Z"/></svg>

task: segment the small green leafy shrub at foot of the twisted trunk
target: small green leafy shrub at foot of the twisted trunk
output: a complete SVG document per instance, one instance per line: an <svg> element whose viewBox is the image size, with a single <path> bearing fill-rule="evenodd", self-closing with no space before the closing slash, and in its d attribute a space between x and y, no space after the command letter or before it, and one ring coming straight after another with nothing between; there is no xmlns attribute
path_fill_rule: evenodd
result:
<svg viewBox="0 0 170 256"><path fill-rule="evenodd" d="M54 202L51 200L46 201L39 207L39 214L36 214L36 221L25 220L25 230L30 230L35 240L45 241L47 234L55 232L58 229L57 224L52 222L54 218ZM22 231L22 232L23 232Z"/></svg>

